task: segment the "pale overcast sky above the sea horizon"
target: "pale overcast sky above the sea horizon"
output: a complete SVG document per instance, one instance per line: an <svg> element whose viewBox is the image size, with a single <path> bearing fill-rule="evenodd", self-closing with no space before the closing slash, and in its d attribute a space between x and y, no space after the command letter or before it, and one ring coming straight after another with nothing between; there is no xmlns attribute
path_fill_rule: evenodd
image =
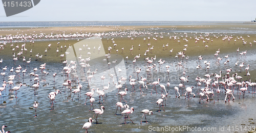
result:
<svg viewBox="0 0 256 133"><path fill-rule="evenodd" d="M41 0L35 7L0 21L250 21L255 0Z"/></svg>

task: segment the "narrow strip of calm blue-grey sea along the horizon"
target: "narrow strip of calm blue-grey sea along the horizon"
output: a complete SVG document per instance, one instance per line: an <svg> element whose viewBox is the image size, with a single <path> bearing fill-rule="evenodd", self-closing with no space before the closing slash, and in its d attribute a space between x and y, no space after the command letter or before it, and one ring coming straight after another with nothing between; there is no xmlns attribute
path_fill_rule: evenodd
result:
<svg viewBox="0 0 256 133"><path fill-rule="evenodd" d="M56 22L0 22L0 28L97 26L97 25L200 25L216 23L243 23L243 21L56 21Z"/></svg>

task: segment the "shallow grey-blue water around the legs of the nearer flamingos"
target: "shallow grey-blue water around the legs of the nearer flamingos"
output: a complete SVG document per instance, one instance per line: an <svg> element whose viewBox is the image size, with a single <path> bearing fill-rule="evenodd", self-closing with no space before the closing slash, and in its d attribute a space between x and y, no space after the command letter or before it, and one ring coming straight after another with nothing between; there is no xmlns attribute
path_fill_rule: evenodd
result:
<svg viewBox="0 0 256 133"><path fill-rule="evenodd" d="M95 39L96 42L92 42ZM100 41L97 39L99 38L91 38L90 40L84 40L88 43L90 47L93 45L99 46L102 45ZM67 51L72 51L73 49L78 49L81 47L81 44L74 44L71 49ZM93 44L93 45L91 45ZM103 47L103 45L102 45ZM103 48L102 48L103 49ZM78 50L73 50L67 56L67 60L78 60L78 55L81 54L83 58L88 58L87 50L81 51L78 54ZM214 96L215 102L210 101L206 102L203 101L199 103L199 95L198 88L193 89L193 93L196 94L195 98L188 98L185 99L184 96L180 98L175 98L175 91L174 87L180 84L180 77L183 76L182 72L186 70L186 75L189 75L188 83L184 85L186 87L194 86L196 87L195 78L197 76L202 77L208 72L204 69L203 61L210 61L210 69L208 73L219 73L220 70L223 71L222 76L225 74L226 68L232 68L230 74L238 73L239 75L244 77L246 80L246 76L244 76L245 70L244 68L247 64L250 65L249 71L251 72L251 79L254 81L255 76L252 76L252 73L255 73L255 52L253 49L247 50L247 56L239 58L236 56L237 52L220 52L219 56L223 58L220 61L220 64L216 62L214 59L214 54L205 55L203 56L203 60L201 61L202 68L196 69L198 64L198 56L191 56L187 61L182 61L181 59L175 59L168 57L163 57L162 60L165 60L163 68L157 65L157 71L151 70L150 74L145 72L147 66L144 63L143 57L140 57L138 61L133 65L133 60L126 60L123 59L120 55L112 54L109 62L118 60L115 65L111 64L108 66L107 62L103 62L102 60L105 59L103 52L95 52L91 54L91 61L90 63L91 71L94 71L96 68L98 69L97 73L94 75L95 79L92 78L92 82L88 83L87 81L87 74L84 74L88 70L88 68L84 68L84 70L80 69L80 66L77 67L77 73L80 77L80 84L83 86L81 89L81 97L77 97L74 94L71 94L68 89L62 89L62 92L56 96L56 103L54 103L54 110L50 110L50 102L49 98L47 97L48 94L56 89L61 90L62 83L66 80L66 75L63 73L63 64L61 63L47 63L45 71L49 72L49 75L46 75L46 78L42 78L40 75L40 70L37 70L37 74L39 74L40 78L40 86L34 91L31 89L31 86L34 84L34 81L30 81L30 76L28 73L33 72L34 68L38 68L40 64L43 62L33 61L26 66L27 72L23 77L20 74L20 79L15 79L15 84L23 83L23 86L20 90L17 91L17 97L15 98L15 92L9 92L9 88L7 87L7 94L5 91L2 92L2 103L5 101L6 103L1 105L0 112L1 118L0 122L2 124L7 125L8 127L5 128L6 130L10 130L12 132L84 132L82 129L82 125L88 121L90 117L94 115L92 111L90 111L90 101L87 99L87 104L84 105L86 101L86 96L84 94L92 88L100 88L102 90L103 86L100 84L100 76L105 74L106 78L104 79L104 86L108 85L108 82L111 82L110 89L108 90L108 96L104 97L104 102L100 101L104 106L105 110L104 113L98 116L98 124L96 121L93 121L92 126L88 129L89 132L148 132L150 129L149 126L152 127L177 127L177 126L189 126L189 127L217 127L219 129L220 126L242 126L241 124L249 124L248 119L253 118L251 121L255 121L254 113L252 112L255 110L255 103L254 103L254 94L246 93L245 98L239 99L239 94L237 91L234 91L234 97L236 99L234 101L225 103L225 93L223 92L219 95L219 102L217 101L217 95ZM72 55L73 54L73 55ZM229 54L229 66L224 66L224 56ZM189 55L188 55L189 56ZM75 57L75 58L74 58ZM2 57L1 58L5 58ZM159 59L155 61L155 63ZM177 67L177 63L182 61L182 66ZM233 64L239 62L244 62L244 66L242 72L240 72L239 67L234 66ZM2 67L7 66L7 74L10 75L9 70L11 67L16 68L18 65L23 67L22 70L25 69L25 66L22 65L22 61L17 61L16 65L14 65L12 60L5 60L2 64ZM165 65L169 65L170 74L168 75L166 72ZM122 69L121 72L118 72L117 68ZM121 100L124 104L127 103L131 107L134 107L134 113L130 115L130 118L133 120L134 124L129 120L126 119L127 124L124 124L124 116L120 115L120 110L117 110L117 115L115 114L116 107L115 103L120 101L120 96L117 95L117 90L113 84L113 79L110 78L109 74L114 74L114 83L117 83L119 77L124 76L129 79L129 76L132 75L133 78L138 79L136 70L141 68L141 72L139 73L139 77L143 76L147 78L148 83L152 83L157 81L157 78L160 78L160 84L166 86L167 80L169 79L170 87L166 90L168 91L168 98L166 99L166 106L164 106L165 112L163 112L163 108L160 108L159 105L156 104L156 101L161 98L160 92L161 88L156 86L158 94L156 94L155 89L152 91L153 86L147 85L148 89L142 88L144 93L139 93L139 85L135 85L136 92L132 92L132 86L129 85L129 81L126 81L127 95L123 97L124 100ZM53 82L53 73L57 73L55 77L55 82ZM8 80L7 77L0 77L2 80ZM71 76L69 77L71 79ZM90 84L90 86L88 85ZM76 88L77 84L72 84L73 89ZM125 85L123 85L125 86ZM251 87L249 87L251 90ZM122 89L123 91L124 89ZM152 95L151 95L152 91ZM182 91L180 91L182 93ZM183 93L184 94L184 90ZM74 96L74 99L72 97ZM95 100L94 109L100 109L101 104L97 103L99 98L97 93L95 92ZM78 100L79 98L79 100ZM30 109L33 107L34 101L38 101L39 107L37 109L37 117L34 117L34 109ZM148 123L145 123L144 119L142 120L142 124L140 124L142 113L140 113L144 109L152 109L153 115L146 116ZM123 109L122 109L123 111ZM250 125L250 124L249 124ZM253 126L255 124L251 124ZM166 130L165 130L166 131ZM183 130L187 132L187 130ZM218 131L218 130L217 130ZM229 130L230 131L230 130ZM225 132L229 132L225 130ZM234 131L230 131L234 132ZM239 131L244 132L244 131Z"/></svg>

